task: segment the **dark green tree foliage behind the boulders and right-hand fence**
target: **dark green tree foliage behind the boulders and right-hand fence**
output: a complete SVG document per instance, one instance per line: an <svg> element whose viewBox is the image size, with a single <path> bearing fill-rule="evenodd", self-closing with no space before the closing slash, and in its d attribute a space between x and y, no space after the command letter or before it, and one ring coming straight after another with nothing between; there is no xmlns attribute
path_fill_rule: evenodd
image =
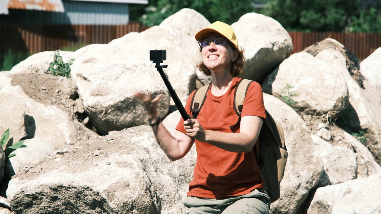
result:
<svg viewBox="0 0 381 214"><path fill-rule="evenodd" d="M265 8L254 8L254 2ZM210 22L232 24L256 12L286 30L381 33L381 0L149 0L148 6L131 7L131 17L154 26L182 8L194 9Z"/></svg>

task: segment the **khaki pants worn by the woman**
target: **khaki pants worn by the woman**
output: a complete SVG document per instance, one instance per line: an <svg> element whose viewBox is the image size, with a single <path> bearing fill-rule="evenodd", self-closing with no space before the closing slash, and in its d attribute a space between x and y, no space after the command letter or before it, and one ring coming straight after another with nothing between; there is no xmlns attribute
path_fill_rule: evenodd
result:
<svg viewBox="0 0 381 214"><path fill-rule="evenodd" d="M271 199L264 190L232 196L226 199L211 199L188 196L184 205L187 214L268 214Z"/></svg>

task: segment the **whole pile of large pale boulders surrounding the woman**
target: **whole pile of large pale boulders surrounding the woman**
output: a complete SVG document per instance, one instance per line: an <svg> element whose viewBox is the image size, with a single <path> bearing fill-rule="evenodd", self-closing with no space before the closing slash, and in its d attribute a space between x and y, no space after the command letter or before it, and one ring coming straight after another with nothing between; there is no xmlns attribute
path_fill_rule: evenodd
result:
<svg viewBox="0 0 381 214"><path fill-rule="evenodd" d="M0 213L185 213L195 148L169 161L134 94L164 94L159 112L175 134L180 114L149 50L167 50L164 71L184 102L210 82L195 67L193 37L209 24L183 9L144 32L61 51L75 58L70 79L44 74L53 51L0 72L0 132L10 128L8 144L24 140L14 157L0 149ZM285 129L288 163L270 213L381 210L368 200L381 192L380 49L359 64L326 39L289 56L291 38L274 19L248 13L232 26L246 50L242 77L261 83Z"/></svg>

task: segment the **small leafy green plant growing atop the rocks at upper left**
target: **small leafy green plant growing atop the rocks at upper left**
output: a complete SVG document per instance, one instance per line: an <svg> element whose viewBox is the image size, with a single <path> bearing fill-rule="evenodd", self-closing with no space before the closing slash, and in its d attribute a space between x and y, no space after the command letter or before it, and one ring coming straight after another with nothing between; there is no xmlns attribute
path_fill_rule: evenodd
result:
<svg viewBox="0 0 381 214"><path fill-rule="evenodd" d="M56 53L54 53L54 59L53 62L50 63L48 70L45 71L45 73L54 75L54 76L61 76L70 78L70 65L72 65L74 62L74 59L69 59L69 62L64 63L62 60L62 56L59 55L59 50L57 50Z"/></svg>

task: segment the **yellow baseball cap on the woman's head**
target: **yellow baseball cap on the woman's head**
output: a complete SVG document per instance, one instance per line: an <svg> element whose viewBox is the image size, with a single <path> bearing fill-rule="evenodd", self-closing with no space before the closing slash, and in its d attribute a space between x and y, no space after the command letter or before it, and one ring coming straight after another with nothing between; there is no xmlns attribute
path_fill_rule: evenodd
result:
<svg viewBox="0 0 381 214"><path fill-rule="evenodd" d="M205 35L209 33L218 33L226 37L235 47L238 49L238 39L235 36L232 26L225 24L224 22L216 21L208 27L205 27L196 33L194 38L200 41Z"/></svg>

